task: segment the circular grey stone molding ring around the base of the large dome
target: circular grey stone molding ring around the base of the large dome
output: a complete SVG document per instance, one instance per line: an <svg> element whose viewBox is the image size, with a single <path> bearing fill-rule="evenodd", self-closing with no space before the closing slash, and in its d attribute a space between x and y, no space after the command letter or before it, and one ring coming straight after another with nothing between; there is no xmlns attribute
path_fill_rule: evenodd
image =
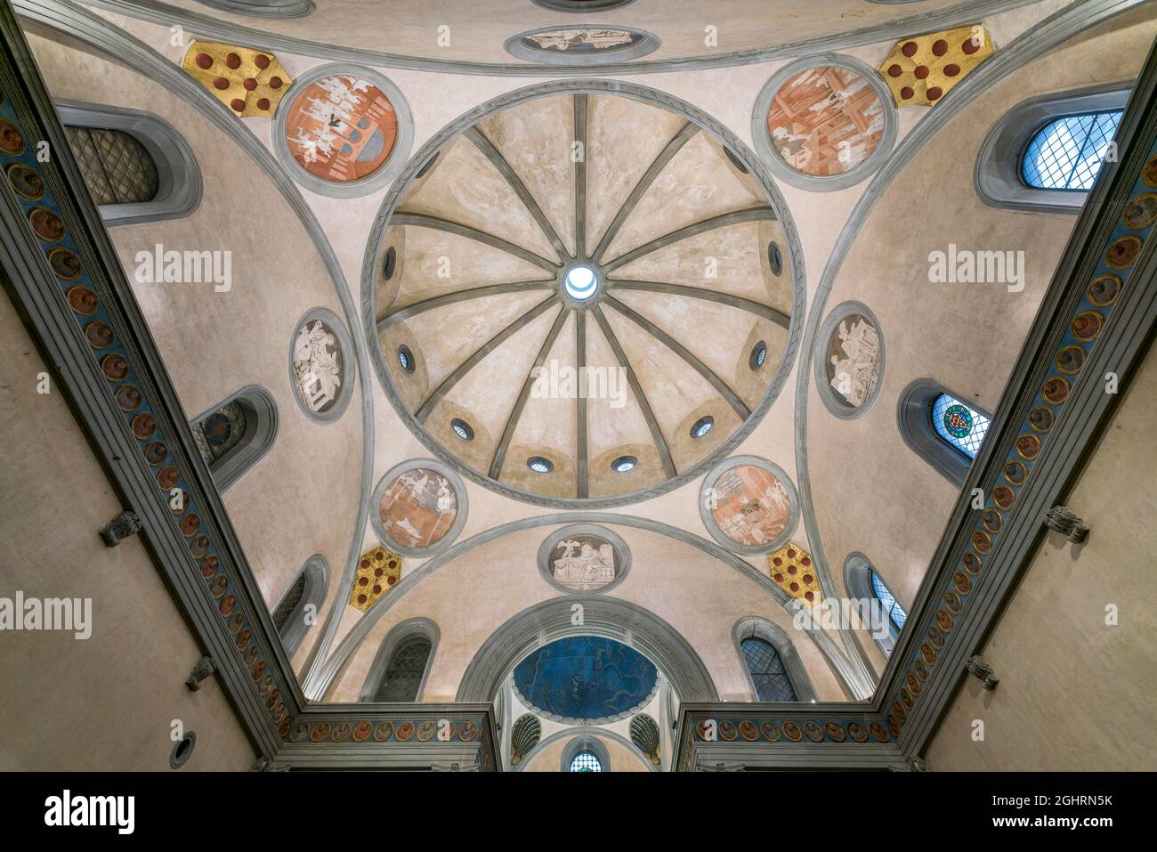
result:
<svg viewBox="0 0 1157 852"><path fill-rule="evenodd" d="M736 213L728 214L727 218L721 218L720 221L724 221L724 219L725 221L751 221L752 219L766 218L778 219L783 232L783 240L786 243L784 255L786 259L790 264L789 269L791 270L793 281L793 322L790 323L788 330L788 341L783 350L779 368L768 384L762 398L751 411L750 417L747 417L743 425L735 432L735 434L728 438L728 440L720 445L714 453L706 456L698 464L688 468L687 470L677 471L675 476L669 476L669 478L663 483L658 483L649 489L638 492L594 499L541 497L522 489L506 485L463 464L452 453L445 449L439 441L426 432L421 424L421 417L419 416L421 412L413 413L410 411L408 405L401 398L401 395L393 384L393 380L390 375L389 367L385 365L384 355L381 352L381 348L376 345L378 317L376 316L374 307L374 292L375 281L377 280L378 274L378 258L382 254L382 241L385 238L388 227L396 225L399 221L421 225L421 222L413 221L414 218L412 214L396 213L403 194L414 181L417 174L427 162L429 162L435 153L441 150L450 140L459 134L466 133L471 127L473 127L473 125L487 116L492 116L504 109L509 109L530 100L551 97L560 94L574 94L578 96L584 94L612 94L640 101L642 103L656 104L686 118L700 130L707 131L716 137L716 139L725 148L730 148L731 152L744 163L744 166L747 167L751 176L759 182L766 197L771 200L769 207L761 206L749 211L738 211ZM428 227L434 227L433 223L427 225ZM666 235L661 238L665 240L672 236L675 235ZM554 271L558 271L559 269L557 264L552 264L545 258L540 259L540 263L550 264L550 267ZM529 502L536 506L573 509L606 508L611 506L624 506L631 502L657 497L658 494L672 491L680 485L695 479L706 472L712 465L718 463L729 453L734 451L735 448L751 434L758 423L762 419L764 414L771 407L772 403L779 396L784 383L787 382L788 375L791 372L803 326L805 291L806 273L804 270L803 251L799 245L798 234L796 233L795 225L788 211L787 201L775 186L775 182L772 179L772 175L766 166L764 166L759 157L757 157L735 133L728 130L725 125L686 101L646 86L639 86L636 83L620 80L558 80L515 89L514 91L508 91L484 104L480 104L479 106L476 106L434 134L426 142L426 145L423 145L414 154L414 156L411 157L406 168L398 176L398 179L390 188L389 192L386 192L377 216L370 228L370 238L367 242L366 254L362 260L362 333L367 340L375 344L371 352L374 368L377 372L378 382L385 391L385 396L390 401L390 404L398 412L399 419L406 425L406 428L408 428L413 435L430 450L430 453L445 464L457 470L464 478L502 494L503 497L508 497L513 500L519 500L522 502ZM598 317L600 316L600 310L602 308L599 306L594 306L589 309L596 321L598 321ZM631 374L628 373L628 382L629 379ZM426 406L423 406L423 411L425 410L427 410ZM659 446L659 442L656 441L656 445ZM662 453L662 449L659 451ZM671 469L673 470L673 465Z"/></svg>

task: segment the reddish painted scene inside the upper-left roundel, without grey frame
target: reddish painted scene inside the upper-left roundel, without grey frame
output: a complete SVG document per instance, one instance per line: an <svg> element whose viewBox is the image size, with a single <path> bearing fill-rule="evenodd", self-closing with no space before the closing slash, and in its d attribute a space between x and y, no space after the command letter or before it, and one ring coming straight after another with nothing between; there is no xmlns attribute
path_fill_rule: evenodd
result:
<svg viewBox="0 0 1157 852"><path fill-rule="evenodd" d="M369 177L390 159L397 137L398 116L390 98L358 76L324 76L289 104L289 153L323 181L341 184Z"/></svg>

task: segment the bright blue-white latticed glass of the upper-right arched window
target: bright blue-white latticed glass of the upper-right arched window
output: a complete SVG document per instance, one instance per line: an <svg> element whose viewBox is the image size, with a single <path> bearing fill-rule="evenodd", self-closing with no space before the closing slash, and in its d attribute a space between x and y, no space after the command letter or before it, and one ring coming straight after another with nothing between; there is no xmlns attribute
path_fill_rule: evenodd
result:
<svg viewBox="0 0 1157 852"><path fill-rule="evenodd" d="M1024 153L1024 182L1041 190L1091 190L1121 115L1121 110L1084 112L1051 120L1037 131Z"/></svg>

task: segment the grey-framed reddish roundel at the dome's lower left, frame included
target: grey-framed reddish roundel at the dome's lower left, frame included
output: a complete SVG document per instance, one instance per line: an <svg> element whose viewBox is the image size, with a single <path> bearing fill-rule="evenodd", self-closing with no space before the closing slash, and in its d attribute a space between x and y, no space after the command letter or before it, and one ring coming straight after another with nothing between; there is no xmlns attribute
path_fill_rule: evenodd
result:
<svg viewBox="0 0 1157 852"><path fill-rule="evenodd" d="M370 520L382 544L405 556L444 548L466 520L462 482L437 462L406 463L374 490Z"/></svg>

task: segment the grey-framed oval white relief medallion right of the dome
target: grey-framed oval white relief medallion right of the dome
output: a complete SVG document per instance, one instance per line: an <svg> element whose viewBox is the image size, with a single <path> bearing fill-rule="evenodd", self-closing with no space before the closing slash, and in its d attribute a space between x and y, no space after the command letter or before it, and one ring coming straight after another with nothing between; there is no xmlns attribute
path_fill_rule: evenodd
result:
<svg viewBox="0 0 1157 852"><path fill-rule="evenodd" d="M876 317L858 302L845 302L824 321L817 351L820 398L837 417L865 412L879 391L884 372L884 344Z"/></svg>

